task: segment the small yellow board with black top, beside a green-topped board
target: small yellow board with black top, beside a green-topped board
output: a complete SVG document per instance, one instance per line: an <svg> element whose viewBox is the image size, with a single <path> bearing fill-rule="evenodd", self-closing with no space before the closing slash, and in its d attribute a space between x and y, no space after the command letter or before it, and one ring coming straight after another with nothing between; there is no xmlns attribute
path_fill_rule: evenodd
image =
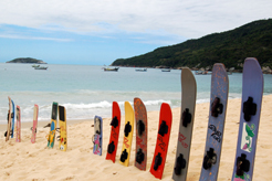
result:
<svg viewBox="0 0 272 181"><path fill-rule="evenodd" d="M59 106L59 126L60 126L59 148L62 151L66 151L67 149L67 126L66 126L66 109L64 106Z"/></svg>

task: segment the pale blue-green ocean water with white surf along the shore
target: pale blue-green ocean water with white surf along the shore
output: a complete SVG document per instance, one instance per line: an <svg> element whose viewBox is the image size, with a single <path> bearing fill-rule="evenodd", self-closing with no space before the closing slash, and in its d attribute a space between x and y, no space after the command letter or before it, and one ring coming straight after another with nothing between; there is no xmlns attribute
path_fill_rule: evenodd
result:
<svg viewBox="0 0 272 181"><path fill-rule="evenodd" d="M136 72L121 67L104 72L103 66L53 65L38 71L31 64L0 63L0 124L7 123L8 96L21 107L22 121L32 121L34 104L39 105L39 121L51 119L52 103L65 106L67 119L91 119L95 115L112 116L112 102L133 104L139 97L147 111L159 110L161 103L180 107L179 70L161 72L148 68ZM209 102L211 75L196 75L197 103ZM229 98L241 97L242 74L229 75ZM272 94L272 75L264 75L264 94Z"/></svg>

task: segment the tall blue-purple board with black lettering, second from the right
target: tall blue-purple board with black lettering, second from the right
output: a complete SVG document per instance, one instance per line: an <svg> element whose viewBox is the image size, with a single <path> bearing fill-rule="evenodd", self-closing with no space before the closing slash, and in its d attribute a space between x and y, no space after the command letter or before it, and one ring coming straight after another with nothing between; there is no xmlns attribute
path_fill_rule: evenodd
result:
<svg viewBox="0 0 272 181"><path fill-rule="evenodd" d="M199 180L217 180L223 140L228 94L229 78L224 65L216 63L212 67L211 75L209 123Z"/></svg>

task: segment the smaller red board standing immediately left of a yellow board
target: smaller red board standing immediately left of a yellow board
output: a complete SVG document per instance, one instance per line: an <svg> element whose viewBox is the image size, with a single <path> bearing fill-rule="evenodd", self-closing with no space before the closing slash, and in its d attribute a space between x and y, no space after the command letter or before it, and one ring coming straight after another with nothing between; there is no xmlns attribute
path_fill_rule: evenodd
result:
<svg viewBox="0 0 272 181"><path fill-rule="evenodd" d="M121 127L121 109L117 102L113 102L111 126L112 126L112 130L111 130L109 142L107 146L106 160L112 160L113 162L115 162L115 157L118 147L118 139L119 139L119 127Z"/></svg>

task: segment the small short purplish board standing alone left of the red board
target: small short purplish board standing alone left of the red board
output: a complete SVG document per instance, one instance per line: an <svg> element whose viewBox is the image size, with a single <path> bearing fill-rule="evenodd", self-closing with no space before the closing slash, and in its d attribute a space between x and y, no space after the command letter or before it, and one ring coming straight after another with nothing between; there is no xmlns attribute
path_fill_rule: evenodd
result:
<svg viewBox="0 0 272 181"><path fill-rule="evenodd" d="M94 117L94 148L93 153L102 156L103 146L103 119L100 116Z"/></svg>

